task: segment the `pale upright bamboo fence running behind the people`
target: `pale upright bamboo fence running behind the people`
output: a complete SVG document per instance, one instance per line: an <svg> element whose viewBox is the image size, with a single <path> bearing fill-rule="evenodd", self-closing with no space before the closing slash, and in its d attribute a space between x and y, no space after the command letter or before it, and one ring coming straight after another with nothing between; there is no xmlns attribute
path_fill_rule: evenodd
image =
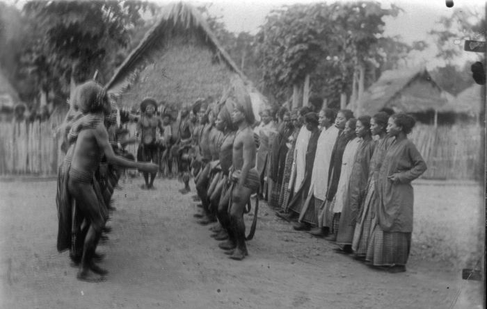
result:
<svg viewBox="0 0 487 309"><path fill-rule="evenodd" d="M54 176L63 154L52 122L0 122L0 175ZM135 124L127 126L134 135ZM417 124L409 135L428 169L423 178L473 180L484 170L480 126ZM137 145L127 150L136 154Z"/></svg>

